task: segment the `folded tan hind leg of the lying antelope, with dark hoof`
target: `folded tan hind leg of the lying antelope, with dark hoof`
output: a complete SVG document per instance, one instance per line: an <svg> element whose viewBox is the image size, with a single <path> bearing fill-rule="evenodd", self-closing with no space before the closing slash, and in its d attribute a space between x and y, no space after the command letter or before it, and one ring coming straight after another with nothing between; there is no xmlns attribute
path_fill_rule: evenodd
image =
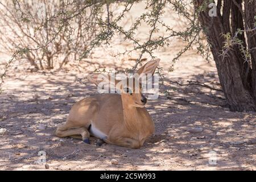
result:
<svg viewBox="0 0 256 182"><path fill-rule="evenodd" d="M55 135L60 138L72 137L74 135L81 135L82 140L85 143L88 143L88 144L90 143L90 140L89 140L90 133L85 127L79 127L76 129L67 129L67 127L63 125L57 128L57 130L55 131Z"/></svg>

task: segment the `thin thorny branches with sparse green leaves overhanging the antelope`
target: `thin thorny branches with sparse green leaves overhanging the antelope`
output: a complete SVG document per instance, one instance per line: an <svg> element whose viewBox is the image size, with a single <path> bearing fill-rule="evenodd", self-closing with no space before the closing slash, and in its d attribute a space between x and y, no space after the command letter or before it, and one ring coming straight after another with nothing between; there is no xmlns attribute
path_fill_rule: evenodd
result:
<svg viewBox="0 0 256 182"><path fill-rule="evenodd" d="M73 53L75 53L75 48L72 49L71 47L73 45L73 40L79 38L86 42L84 49L81 49L82 51L79 52L78 60L82 61L84 58L88 57L94 48L101 46L101 44L109 44L114 34L120 34L124 40L129 41L134 45L132 49L118 53L115 56L125 55L134 51L139 52L138 59L130 72L134 72L137 66L141 64L141 59L144 55L150 56L152 59L154 59L154 53L160 48L170 46L171 39L174 37L179 38L184 42L188 42L188 44L181 49L179 53L177 53L177 56L175 56L174 59L170 60L170 71L172 71L175 61L179 60L180 56L182 56L184 52L193 46L197 48L197 51L202 56L209 60L209 46L208 44L205 44L204 37L200 35L203 28L200 27L199 20L197 18L198 11L195 9L188 9L189 7L192 7L192 2L189 5L189 3L179 0L143 1L143 3L146 4L145 11L143 11L141 15L135 19L133 25L127 30L120 25L120 22L126 17L127 13L136 3L142 1L61 0L59 2L59 6L56 7L57 9L55 13L46 16L37 27L34 27L35 32L43 31L46 27L51 28L50 24L57 23L57 28L53 34L51 32L47 32L48 42L41 40L38 42L38 35L34 37L32 34L27 34L27 32L23 30L24 27L31 26L30 22L33 22L34 19L31 16L32 14L30 11L28 11L29 8L22 6L24 0L13 0L13 2L15 5L18 5L15 7L22 14L21 19L23 24L19 24L19 29L20 31L23 31L23 35L25 35L30 41L29 44L26 44L20 40L22 44L16 45L15 47L19 47L20 50L25 47L28 55L27 59L29 58L30 60L31 55L32 57L37 57L35 51L42 50L43 53L40 55L40 59L38 61L34 61L34 63L32 61L34 65L37 64L36 62L39 62L40 68L43 68L44 63L44 61L43 63L41 61L43 60L42 57L47 56L47 59L49 59L49 56L53 56L53 53L49 51L49 46L52 46L53 42L57 42L57 44L60 44L62 41L67 42L68 52L65 53L65 56L63 56L63 61L60 62L61 68L65 61L67 61L66 56L73 55ZM1 4L3 5L3 3ZM122 7L121 13L114 13L113 7L115 6L118 6L118 9ZM172 7L172 11L174 13L188 21L185 30L175 31L173 27L163 21L163 15L166 13L166 11L170 11L170 7ZM47 10L47 12L49 12L49 10ZM90 12L90 15L93 15L94 18L86 21L85 19L88 18L88 12ZM79 21L82 22L79 27L73 26L76 18L79 18ZM142 23L146 23L147 26L150 27L146 41L137 36L138 30ZM156 32L158 32L160 29L165 30L166 34L163 36L158 36ZM72 39L73 32L76 30L89 32L91 39L88 41L84 40L82 38L82 34L80 34L77 38ZM34 41L34 43L31 43L31 40ZM77 57L76 55L77 54L75 53L75 58ZM11 59L7 64L10 65L14 60L15 58ZM51 69L52 67L53 63L51 60L49 61L48 68ZM9 66L6 68L9 68ZM160 69L158 69L158 71L160 71ZM3 80L2 78L6 76L6 72L7 71L5 71L1 76L1 80ZM1 85L2 82L0 83L0 86Z"/></svg>

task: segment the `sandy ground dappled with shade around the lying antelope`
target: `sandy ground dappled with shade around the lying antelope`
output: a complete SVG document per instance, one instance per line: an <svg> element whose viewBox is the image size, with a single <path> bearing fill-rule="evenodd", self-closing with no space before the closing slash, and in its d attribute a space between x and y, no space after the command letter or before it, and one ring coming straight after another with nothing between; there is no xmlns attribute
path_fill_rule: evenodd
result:
<svg viewBox="0 0 256 182"><path fill-rule="evenodd" d="M43 170L44 164L36 163L42 159L39 151L45 152L51 170L256 169L256 113L230 112L222 92L170 82L185 84L192 80L220 88L214 63L207 63L193 50L176 63L174 72L168 73L171 58L182 46L179 42L156 52L166 78L158 100L148 101L146 106L156 131L142 148L97 147L96 138L88 145L79 139L53 136L75 102L98 94L96 86L85 79L88 73L96 68L125 69L134 64L127 56L110 56L117 44L121 39L107 51L96 49L89 59L80 64L71 62L59 72L32 72L23 62L11 67L0 94L0 128L8 130L0 135L0 170ZM1 69L7 58L1 56ZM202 130L190 131L195 127ZM118 160L118 165L111 164L112 159Z"/></svg>

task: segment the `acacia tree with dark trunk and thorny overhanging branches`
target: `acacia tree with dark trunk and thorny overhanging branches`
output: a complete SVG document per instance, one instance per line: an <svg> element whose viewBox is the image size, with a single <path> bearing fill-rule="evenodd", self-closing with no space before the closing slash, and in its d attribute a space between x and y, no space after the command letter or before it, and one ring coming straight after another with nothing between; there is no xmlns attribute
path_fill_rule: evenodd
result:
<svg viewBox="0 0 256 182"><path fill-rule="evenodd" d="M13 0L21 13L21 20L26 24L30 15L19 2L24 0ZM41 1L41 0L38 0ZM138 2L145 3L145 11L135 20L129 29L122 27L120 23L131 8ZM209 5L216 5L216 16L209 16ZM94 19L89 22L91 27L97 27L92 31L93 40L80 53L79 60L87 57L93 48L104 43L110 43L115 34L120 34L123 39L133 43L133 49L126 50L122 54L139 51L134 68L140 64L144 54L154 58L154 52L159 48L168 47L173 37L180 38L187 42L187 46L177 53L177 56L170 61L170 71L177 59L190 47L196 47L197 52L209 60L213 56L216 63L220 83L226 100L232 111L255 111L256 110L256 28L255 12L256 2L253 0L150 0L150 1L81 1L61 0L60 7L53 16L48 17L43 24L59 20L57 34L65 32L72 34L72 20L76 16L86 16L86 11L93 12ZM113 7L118 6L122 12L113 13ZM188 7L193 7L189 11ZM179 16L187 19L188 26L184 30L175 31L174 27L163 21L162 17L168 9L172 8ZM137 32L144 22L149 28L146 41L137 36ZM43 26L42 24L42 26ZM86 26L86 24L85 24ZM163 36L155 36L159 29L165 30ZM95 29L94 29L95 30ZM71 32L69 32L71 31ZM90 29L88 30L90 31ZM54 38L54 36L53 36ZM207 41L205 41L207 40ZM52 41L52 40L50 40ZM47 45L48 43L46 43ZM43 46L39 47L43 49ZM6 65L6 70L15 60L16 55L34 51L38 47L27 45L15 51L13 57ZM1 85L0 85L1 86Z"/></svg>

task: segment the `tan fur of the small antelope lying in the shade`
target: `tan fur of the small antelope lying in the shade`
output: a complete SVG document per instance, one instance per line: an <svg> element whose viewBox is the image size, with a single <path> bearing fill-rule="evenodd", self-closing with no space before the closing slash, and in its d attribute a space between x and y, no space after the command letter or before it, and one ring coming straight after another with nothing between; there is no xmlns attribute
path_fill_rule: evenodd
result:
<svg viewBox="0 0 256 182"><path fill-rule="evenodd" d="M137 73L154 73L159 61L149 61ZM92 75L88 80L97 85L96 78L97 75ZM84 98L72 106L67 121L57 128L55 134L74 138L81 135L84 140L89 138L88 127L93 125L108 136L104 138L106 143L139 148L155 130L142 97L141 93L130 95L122 92Z"/></svg>

